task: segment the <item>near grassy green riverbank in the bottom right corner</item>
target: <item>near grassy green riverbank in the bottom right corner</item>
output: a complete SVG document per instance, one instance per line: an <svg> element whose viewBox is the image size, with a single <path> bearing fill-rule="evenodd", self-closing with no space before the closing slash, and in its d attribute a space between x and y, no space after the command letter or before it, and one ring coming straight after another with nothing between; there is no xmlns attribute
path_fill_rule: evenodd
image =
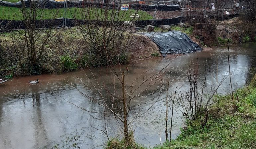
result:
<svg viewBox="0 0 256 149"><path fill-rule="evenodd" d="M187 121L187 127L171 142L153 149L217 149L256 148L256 77L251 85L234 93L235 104L230 95L217 96L210 107L209 119L202 128L199 119ZM136 142L136 140L135 140ZM110 141L108 149L122 148L123 142ZM133 143L131 149L146 149Z"/></svg>

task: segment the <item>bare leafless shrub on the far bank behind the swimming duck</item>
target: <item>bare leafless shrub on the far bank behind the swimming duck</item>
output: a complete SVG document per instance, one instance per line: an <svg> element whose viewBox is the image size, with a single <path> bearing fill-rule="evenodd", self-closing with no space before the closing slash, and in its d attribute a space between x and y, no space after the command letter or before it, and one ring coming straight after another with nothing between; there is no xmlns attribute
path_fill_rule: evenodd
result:
<svg viewBox="0 0 256 149"><path fill-rule="evenodd" d="M40 64L50 61L45 55L58 46L58 26L54 25L54 20L45 18L58 18L59 9L52 10L50 16L46 16L49 14L44 13L45 9L38 5L39 1L31 0L29 6L26 6L24 1L21 3L20 11L13 13L22 14L16 15L21 16L20 20L23 21L18 28L24 29L11 30L5 36L6 47L15 51L18 67L26 73L25 75L40 74L41 70L44 70L44 65Z"/></svg>

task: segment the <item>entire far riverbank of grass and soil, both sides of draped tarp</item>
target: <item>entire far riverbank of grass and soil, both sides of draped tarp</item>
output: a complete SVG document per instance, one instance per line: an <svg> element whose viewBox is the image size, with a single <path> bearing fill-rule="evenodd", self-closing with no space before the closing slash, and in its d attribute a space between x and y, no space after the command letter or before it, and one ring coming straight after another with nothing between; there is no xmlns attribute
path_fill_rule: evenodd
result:
<svg viewBox="0 0 256 149"><path fill-rule="evenodd" d="M241 18L232 18L226 21L220 21L216 31L209 33L209 25L190 26L171 26L171 30L181 31L189 35L192 41L199 44L204 50L211 47L218 47L228 44L238 44L256 41L256 30L253 23L247 23L244 27ZM168 31L155 27L156 32ZM56 36L53 37L54 47L52 47L38 61L39 72L30 69L25 55L19 54L21 51L14 50L19 45L13 44L12 33L7 32L0 35L0 78L6 75L26 76L38 75L42 73L61 73L72 71L78 68L104 66L105 60L94 58L90 52L89 45L85 44L84 37L76 27L62 28L56 30ZM43 38L43 37L41 37ZM21 42L21 41L18 41ZM131 34L128 40L128 49L121 55L115 54L115 59L121 63L132 63L137 60L160 57L161 53L157 45L148 37ZM20 57L22 66L18 60Z"/></svg>

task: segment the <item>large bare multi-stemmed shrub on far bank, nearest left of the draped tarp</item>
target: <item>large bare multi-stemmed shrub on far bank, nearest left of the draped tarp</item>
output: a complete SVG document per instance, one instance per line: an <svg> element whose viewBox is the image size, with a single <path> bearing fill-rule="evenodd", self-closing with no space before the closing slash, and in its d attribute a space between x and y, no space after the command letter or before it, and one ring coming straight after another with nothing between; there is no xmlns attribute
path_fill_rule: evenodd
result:
<svg viewBox="0 0 256 149"><path fill-rule="evenodd" d="M136 29L134 21L143 18L146 13L143 14L141 10L121 11L121 1L114 3L118 3L115 6L117 9L112 9L110 5L98 8L91 3L90 7L76 8L73 14L84 44L88 46L85 55L92 57L95 66L127 63L130 50L138 44L130 41ZM132 14L140 15L136 17ZM81 20L85 23L81 23Z"/></svg>

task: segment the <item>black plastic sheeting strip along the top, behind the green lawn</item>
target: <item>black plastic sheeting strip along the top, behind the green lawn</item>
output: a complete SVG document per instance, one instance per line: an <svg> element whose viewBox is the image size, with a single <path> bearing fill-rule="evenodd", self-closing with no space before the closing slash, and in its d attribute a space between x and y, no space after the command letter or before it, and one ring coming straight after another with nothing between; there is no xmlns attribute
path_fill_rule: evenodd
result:
<svg viewBox="0 0 256 149"><path fill-rule="evenodd" d="M37 8L64 8L65 2L57 2L53 0L37 0ZM30 0L25 0L24 4L26 7L31 6ZM67 7L98 7L104 8L108 7L110 9L119 9L118 4L107 4L107 3L100 3L100 2L85 2L85 1L78 1L78 2L70 2L67 1ZM17 3L11 3L6 1L0 1L0 6L7 6L7 7L22 7L21 1ZM144 11L148 10L155 10L156 5L145 5L145 4L130 4L130 8L132 9L141 9ZM157 10L160 11L175 11L180 10L179 5L158 5Z"/></svg>

